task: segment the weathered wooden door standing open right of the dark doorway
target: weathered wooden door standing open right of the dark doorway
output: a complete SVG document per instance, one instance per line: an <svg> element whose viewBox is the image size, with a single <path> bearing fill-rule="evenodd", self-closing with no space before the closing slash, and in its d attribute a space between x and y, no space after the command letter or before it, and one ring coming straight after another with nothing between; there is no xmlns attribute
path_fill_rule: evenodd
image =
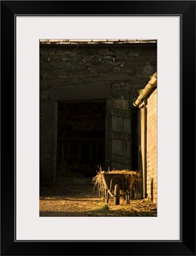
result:
<svg viewBox="0 0 196 256"><path fill-rule="evenodd" d="M125 99L107 100L105 169L131 170L130 102Z"/></svg>

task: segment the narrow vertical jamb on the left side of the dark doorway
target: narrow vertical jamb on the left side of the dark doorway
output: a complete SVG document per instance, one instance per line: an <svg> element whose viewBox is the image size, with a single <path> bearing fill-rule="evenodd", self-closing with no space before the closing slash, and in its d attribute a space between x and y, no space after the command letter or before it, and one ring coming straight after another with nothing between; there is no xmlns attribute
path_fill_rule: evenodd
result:
<svg viewBox="0 0 196 256"><path fill-rule="evenodd" d="M58 118L58 102L54 102L54 164L53 164L53 184L56 183L57 168L57 118Z"/></svg>

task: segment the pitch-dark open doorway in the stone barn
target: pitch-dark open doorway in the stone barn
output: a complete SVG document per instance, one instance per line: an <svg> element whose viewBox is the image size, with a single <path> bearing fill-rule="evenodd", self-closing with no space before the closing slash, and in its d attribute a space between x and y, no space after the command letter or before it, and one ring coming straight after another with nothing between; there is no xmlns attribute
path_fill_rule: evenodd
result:
<svg viewBox="0 0 196 256"><path fill-rule="evenodd" d="M105 101L59 102L57 177L92 178L105 168Z"/></svg>

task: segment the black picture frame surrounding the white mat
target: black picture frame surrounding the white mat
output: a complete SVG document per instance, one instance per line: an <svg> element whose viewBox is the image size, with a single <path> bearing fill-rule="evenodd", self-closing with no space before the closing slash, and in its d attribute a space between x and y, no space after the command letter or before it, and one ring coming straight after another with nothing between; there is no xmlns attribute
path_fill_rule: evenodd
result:
<svg viewBox="0 0 196 256"><path fill-rule="evenodd" d="M62 14L181 16L180 241L15 241L15 16ZM195 255L195 1L1 1L1 255Z"/></svg>

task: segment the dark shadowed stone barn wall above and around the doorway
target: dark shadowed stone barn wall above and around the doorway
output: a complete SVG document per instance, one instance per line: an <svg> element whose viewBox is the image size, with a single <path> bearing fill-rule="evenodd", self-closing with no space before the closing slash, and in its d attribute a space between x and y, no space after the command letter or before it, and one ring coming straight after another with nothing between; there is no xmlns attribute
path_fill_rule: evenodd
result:
<svg viewBox="0 0 196 256"><path fill-rule="evenodd" d="M138 90L155 71L156 41L40 40L41 186L56 182L59 104L124 98L132 106ZM132 116L135 122L137 113ZM136 152L137 131L133 138ZM153 182L155 187L154 178Z"/></svg>

